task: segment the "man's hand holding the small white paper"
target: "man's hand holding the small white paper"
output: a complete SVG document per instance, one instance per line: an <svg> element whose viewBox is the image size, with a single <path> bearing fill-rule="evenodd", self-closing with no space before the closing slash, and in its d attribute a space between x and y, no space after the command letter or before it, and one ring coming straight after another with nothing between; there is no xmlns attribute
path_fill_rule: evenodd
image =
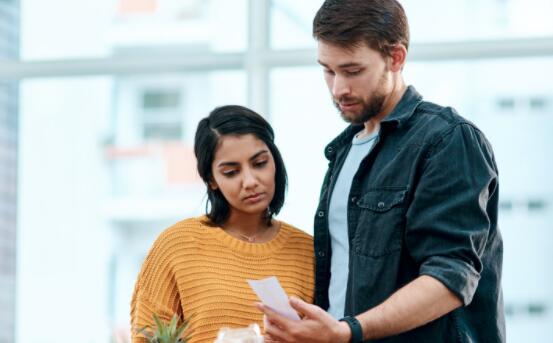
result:
<svg viewBox="0 0 553 343"><path fill-rule="evenodd" d="M266 316L265 333L268 342L347 343L350 341L349 326L332 318L320 307L295 297L290 298L290 305L303 315L301 321L290 320L263 304L257 304L257 308Z"/></svg>

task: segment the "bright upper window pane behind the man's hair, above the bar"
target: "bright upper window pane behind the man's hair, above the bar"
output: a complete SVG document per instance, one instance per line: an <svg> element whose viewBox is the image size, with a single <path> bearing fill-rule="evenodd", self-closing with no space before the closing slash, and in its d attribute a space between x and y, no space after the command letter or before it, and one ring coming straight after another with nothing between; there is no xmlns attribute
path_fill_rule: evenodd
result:
<svg viewBox="0 0 553 343"><path fill-rule="evenodd" d="M550 0L400 0L412 43L553 35ZM271 0L271 46L312 48L313 16L321 0Z"/></svg>

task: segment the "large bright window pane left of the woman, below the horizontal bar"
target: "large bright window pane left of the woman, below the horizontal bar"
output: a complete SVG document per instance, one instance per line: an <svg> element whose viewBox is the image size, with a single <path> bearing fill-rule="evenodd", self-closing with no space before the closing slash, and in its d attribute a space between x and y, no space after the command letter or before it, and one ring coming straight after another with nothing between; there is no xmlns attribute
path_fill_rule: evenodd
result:
<svg viewBox="0 0 553 343"><path fill-rule="evenodd" d="M18 342L130 332L153 239L204 210L197 122L228 103L245 103L241 71L21 83Z"/></svg>

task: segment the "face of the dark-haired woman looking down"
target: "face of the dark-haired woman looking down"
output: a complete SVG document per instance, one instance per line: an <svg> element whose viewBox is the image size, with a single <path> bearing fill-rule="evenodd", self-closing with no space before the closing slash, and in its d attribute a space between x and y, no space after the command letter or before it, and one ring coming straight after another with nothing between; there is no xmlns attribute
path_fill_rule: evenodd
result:
<svg viewBox="0 0 553 343"><path fill-rule="evenodd" d="M219 189L234 214L261 214L275 194L275 161L252 134L222 136L211 165L211 189Z"/></svg>

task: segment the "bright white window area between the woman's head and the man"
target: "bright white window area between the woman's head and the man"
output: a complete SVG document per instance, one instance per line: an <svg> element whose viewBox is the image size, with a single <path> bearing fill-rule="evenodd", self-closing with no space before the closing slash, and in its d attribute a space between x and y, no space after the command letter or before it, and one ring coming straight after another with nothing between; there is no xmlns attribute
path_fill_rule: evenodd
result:
<svg viewBox="0 0 553 343"><path fill-rule="evenodd" d="M278 68L270 82L271 123L289 177L279 217L312 234L328 165L324 147L346 123L332 105L320 67Z"/></svg>

